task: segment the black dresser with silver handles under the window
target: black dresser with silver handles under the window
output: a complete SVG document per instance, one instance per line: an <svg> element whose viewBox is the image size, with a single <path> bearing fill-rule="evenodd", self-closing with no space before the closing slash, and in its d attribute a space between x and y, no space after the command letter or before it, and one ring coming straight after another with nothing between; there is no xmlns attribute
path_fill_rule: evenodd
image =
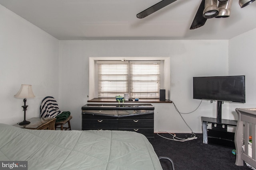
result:
<svg viewBox="0 0 256 170"><path fill-rule="evenodd" d="M86 104L82 106L82 130L135 131L154 137L154 106Z"/></svg>

